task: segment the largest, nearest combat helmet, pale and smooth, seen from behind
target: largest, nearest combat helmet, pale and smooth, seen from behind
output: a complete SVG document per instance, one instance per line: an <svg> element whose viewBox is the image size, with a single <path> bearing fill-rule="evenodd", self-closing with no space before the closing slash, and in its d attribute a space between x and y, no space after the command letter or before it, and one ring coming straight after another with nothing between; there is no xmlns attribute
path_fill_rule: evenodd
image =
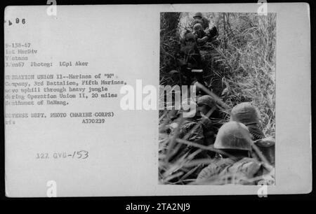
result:
<svg viewBox="0 0 316 214"><path fill-rule="evenodd" d="M214 148L230 150L251 150L251 135L240 122L227 122L218 130Z"/></svg>

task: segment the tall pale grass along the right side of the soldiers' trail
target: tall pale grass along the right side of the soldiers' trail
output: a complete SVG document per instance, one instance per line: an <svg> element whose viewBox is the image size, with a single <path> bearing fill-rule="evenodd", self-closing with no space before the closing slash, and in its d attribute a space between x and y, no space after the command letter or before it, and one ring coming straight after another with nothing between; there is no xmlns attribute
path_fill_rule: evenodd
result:
<svg viewBox="0 0 316 214"><path fill-rule="evenodd" d="M261 113L263 133L275 136L276 14L213 15L220 47L213 55L222 68L214 71L227 90L223 99L233 107L251 101Z"/></svg>

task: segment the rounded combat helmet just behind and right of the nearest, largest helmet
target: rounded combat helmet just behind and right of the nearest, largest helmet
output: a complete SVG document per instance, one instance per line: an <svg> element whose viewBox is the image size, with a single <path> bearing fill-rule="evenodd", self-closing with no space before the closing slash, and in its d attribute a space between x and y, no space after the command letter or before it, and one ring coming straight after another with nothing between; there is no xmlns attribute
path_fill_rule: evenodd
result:
<svg viewBox="0 0 316 214"><path fill-rule="evenodd" d="M259 124L258 110L248 102L237 104L232 108L230 121L242 122L243 124Z"/></svg>

